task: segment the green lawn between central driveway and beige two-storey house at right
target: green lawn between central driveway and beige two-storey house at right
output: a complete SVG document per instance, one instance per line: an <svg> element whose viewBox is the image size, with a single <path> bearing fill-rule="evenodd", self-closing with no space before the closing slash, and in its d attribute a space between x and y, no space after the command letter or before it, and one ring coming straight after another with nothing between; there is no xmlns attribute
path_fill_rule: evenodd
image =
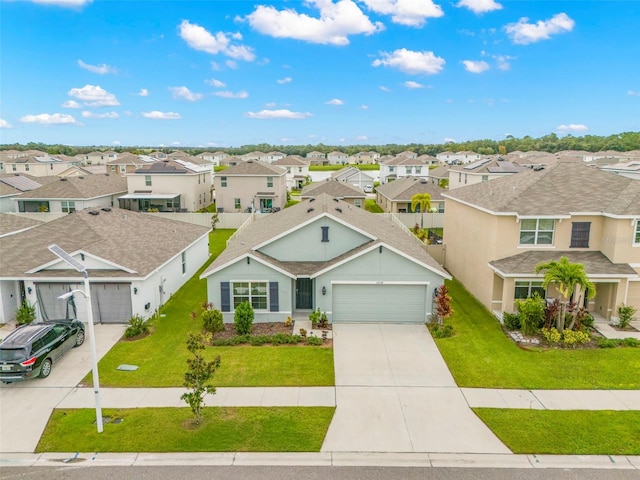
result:
<svg viewBox="0 0 640 480"><path fill-rule="evenodd" d="M525 350L458 281L447 282L456 335L436 340L461 387L525 389L640 389L635 348Z"/></svg>

